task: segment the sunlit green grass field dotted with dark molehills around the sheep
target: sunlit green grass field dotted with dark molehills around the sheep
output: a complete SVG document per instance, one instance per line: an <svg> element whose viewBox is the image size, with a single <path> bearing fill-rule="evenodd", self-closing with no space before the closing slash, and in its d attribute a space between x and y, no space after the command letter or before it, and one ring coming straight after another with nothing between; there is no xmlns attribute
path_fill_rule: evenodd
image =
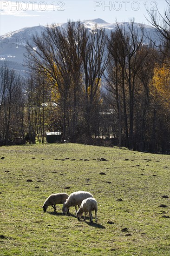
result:
<svg viewBox="0 0 170 256"><path fill-rule="evenodd" d="M94 195L98 223L79 222L74 207L70 216L62 205L43 212L52 193L78 190ZM70 143L0 147L1 256L169 256L169 217L170 155Z"/></svg>

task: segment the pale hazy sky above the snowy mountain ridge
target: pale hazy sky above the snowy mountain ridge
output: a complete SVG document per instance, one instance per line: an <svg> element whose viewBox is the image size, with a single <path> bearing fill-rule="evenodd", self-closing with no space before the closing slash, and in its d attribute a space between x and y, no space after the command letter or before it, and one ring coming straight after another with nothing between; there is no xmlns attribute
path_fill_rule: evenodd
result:
<svg viewBox="0 0 170 256"><path fill-rule="evenodd" d="M23 27L62 23L68 19L103 19L109 23L128 21L149 24L149 11L163 13L165 0L0 0L0 35Z"/></svg>

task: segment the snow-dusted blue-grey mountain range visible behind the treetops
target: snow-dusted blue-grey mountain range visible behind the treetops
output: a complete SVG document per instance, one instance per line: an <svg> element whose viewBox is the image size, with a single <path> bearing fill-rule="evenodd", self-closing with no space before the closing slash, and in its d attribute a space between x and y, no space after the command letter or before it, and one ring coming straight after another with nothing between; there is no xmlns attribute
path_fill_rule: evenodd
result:
<svg viewBox="0 0 170 256"><path fill-rule="evenodd" d="M100 18L94 20L83 20L82 23L91 31L92 28L95 27L95 24L98 27L105 28L106 33L109 33L111 30L114 30L116 27L116 23L108 23L105 20ZM118 23L119 26L123 26L125 30L128 30L129 23ZM57 26L66 27L67 23L59 23ZM134 23L135 29L138 31L140 36L140 24ZM26 52L26 41L33 42L33 35L40 35L43 31L45 31L45 26L36 26L36 27L24 27L19 30L9 32L7 34L0 36L0 63L4 60L10 61L10 66L12 67L12 62L14 59L13 67L17 69L16 63L19 66L23 63L24 56L23 54ZM157 33L154 27L144 25L144 33L151 36L153 40L157 40ZM146 41L147 43L147 41ZM36 46L34 46L36 47ZM19 68L20 69L20 68ZM23 67L25 70L25 67Z"/></svg>

